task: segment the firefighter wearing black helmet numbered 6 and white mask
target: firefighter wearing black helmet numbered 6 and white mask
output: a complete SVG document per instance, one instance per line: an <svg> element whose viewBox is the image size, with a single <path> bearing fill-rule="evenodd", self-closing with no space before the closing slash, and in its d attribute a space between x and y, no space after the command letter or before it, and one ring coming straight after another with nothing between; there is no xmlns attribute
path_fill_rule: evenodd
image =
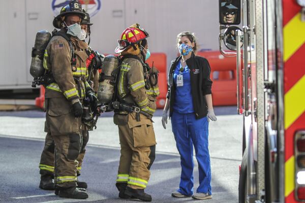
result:
<svg viewBox="0 0 305 203"><path fill-rule="evenodd" d="M82 100L93 90L85 80L87 70L87 44L78 39L81 21L85 17L79 1L71 1L53 20L60 29L51 38L44 54L44 69L51 73L54 82L45 85L47 132L43 156L51 156L55 145L55 165L41 159L41 183L54 172L55 194L60 197L84 199L88 195L77 187L77 157L81 148ZM54 150L54 149L53 149ZM51 159L51 158L50 158ZM50 172L50 173L47 173ZM50 183L50 181L49 181Z"/></svg>

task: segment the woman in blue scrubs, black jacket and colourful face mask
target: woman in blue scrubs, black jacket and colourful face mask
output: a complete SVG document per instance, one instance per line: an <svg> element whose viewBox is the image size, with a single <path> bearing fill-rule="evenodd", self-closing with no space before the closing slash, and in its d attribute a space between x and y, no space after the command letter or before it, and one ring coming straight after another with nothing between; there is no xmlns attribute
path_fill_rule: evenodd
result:
<svg viewBox="0 0 305 203"><path fill-rule="evenodd" d="M208 61L196 56L197 42L193 33L181 32L177 36L180 52L172 61L162 124L166 129L167 112L181 160L179 189L173 197L211 199L211 166L208 152L208 121L216 121L211 96ZM199 187L194 193L193 146L199 169Z"/></svg>

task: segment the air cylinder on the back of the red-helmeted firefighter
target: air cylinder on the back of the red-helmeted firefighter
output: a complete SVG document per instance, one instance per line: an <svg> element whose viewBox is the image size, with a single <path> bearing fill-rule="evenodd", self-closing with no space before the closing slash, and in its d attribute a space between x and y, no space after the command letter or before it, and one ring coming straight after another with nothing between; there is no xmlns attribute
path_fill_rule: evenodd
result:
<svg viewBox="0 0 305 203"><path fill-rule="evenodd" d="M118 67L119 58L113 55L108 55L104 58L102 65L102 73L100 75L98 99L103 104L109 104L114 93L114 85L111 81L114 80L112 72Z"/></svg>

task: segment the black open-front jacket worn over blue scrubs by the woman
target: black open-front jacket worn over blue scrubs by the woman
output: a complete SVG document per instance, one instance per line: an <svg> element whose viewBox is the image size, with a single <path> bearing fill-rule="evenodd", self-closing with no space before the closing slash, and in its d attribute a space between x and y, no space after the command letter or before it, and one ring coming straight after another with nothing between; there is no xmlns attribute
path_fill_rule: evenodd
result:
<svg viewBox="0 0 305 203"><path fill-rule="evenodd" d="M169 99L169 116L173 113L175 101L176 85L173 81L173 74L181 55L171 62L168 80L168 92L166 97ZM203 118L207 115L207 105L205 100L206 94L211 94L212 81L210 80L210 66L206 58L192 54L187 61L190 69L191 89L193 96L193 106L196 119Z"/></svg>

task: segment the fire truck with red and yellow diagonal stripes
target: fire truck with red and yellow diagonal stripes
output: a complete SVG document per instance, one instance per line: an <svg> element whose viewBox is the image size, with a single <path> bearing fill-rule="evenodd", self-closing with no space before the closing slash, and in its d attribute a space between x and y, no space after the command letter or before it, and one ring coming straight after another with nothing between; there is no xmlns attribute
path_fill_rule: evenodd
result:
<svg viewBox="0 0 305 203"><path fill-rule="evenodd" d="M219 0L219 11L243 116L239 202L305 202L305 1Z"/></svg>

